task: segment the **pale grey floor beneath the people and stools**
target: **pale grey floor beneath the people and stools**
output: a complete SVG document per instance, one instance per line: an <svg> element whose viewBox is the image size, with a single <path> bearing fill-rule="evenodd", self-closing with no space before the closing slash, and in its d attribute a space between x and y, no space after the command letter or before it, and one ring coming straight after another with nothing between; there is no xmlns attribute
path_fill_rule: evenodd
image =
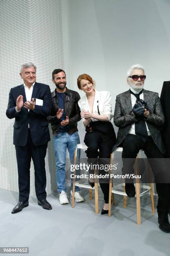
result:
<svg viewBox="0 0 170 256"><path fill-rule="evenodd" d="M133 198L123 208L122 197L115 197L109 218L96 215L94 200L89 200L87 189L81 191L85 202L75 208L60 205L54 194L47 196L50 211L31 197L29 207L11 214L18 193L0 189L0 246L29 247L31 256L170 256L170 234L158 228L148 195L141 199L142 224L137 225ZM99 205L101 211L101 192Z"/></svg>

